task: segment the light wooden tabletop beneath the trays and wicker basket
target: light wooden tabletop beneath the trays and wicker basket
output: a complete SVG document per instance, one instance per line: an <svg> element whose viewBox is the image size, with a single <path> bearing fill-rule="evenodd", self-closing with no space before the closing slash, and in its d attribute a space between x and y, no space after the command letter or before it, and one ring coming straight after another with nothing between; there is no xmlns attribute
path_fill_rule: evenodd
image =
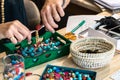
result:
<svg viewBox="0 0 120 80"><path fill-rule="evenodd" d="M103 14L107 15L107 16L111 15L108 12L100 13L100 15L103 15ZM65 28L59 30L58 32L60 34L64 35ZM0 55L0 56L3 56L3 55ZM0 61L0 64L1 64L1 61ZM38 66L35 66L35 67L32 67L32 68L29 68L29 69L26 70L26 72L32 72L34 74L40 74L41 75L47 64L83 69L83 68L77 66L72 61L71 55L68 55L68 56L64 56L62 58L58 58L56 60L52 60L50 62L46 62L44 64L41 64L41 65L38 65ZM105 66L103 68L94 69L94 70L91 69L91 70L97 72L96 80L111 80L109 78L110 75L112 73L114 73L115 71L119 70L119 69L120 69L120 54L115 54L115 56L113 57L110 64L108 64L107 66ZM39 80L39 77L37 77L37 76L31 76L31 77L28 77L26 80Z"/></svg>

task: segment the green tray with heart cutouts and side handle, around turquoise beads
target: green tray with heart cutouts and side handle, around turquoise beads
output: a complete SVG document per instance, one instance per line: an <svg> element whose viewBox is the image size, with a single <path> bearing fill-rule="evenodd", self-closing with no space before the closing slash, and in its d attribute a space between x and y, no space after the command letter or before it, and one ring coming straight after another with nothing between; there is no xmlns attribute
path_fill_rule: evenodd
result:
<svg viewBox="0 0 120 80"><path fill-rule="evenodd" d="M52 37L55 41L60 41L61 47L55 50L48 50L46 52L43 52L41 55L37 55L34 57L24 56L26 69L69 54L70 51L69 47L71 41L69 41L59 33L55 32L53 34L48 31L45 34L41 35L40 37L43 37L43 41ZM13 43L4 43L3 46L7 54L15 54L16 53L15 51L18 49L17 47L25 48L27 46L35 44L36 43L35 37L32 37L31 44L27 44L27 43L28 43L27 40L23 40L21 43L18 43L16 45L14 45Z"/></svg>

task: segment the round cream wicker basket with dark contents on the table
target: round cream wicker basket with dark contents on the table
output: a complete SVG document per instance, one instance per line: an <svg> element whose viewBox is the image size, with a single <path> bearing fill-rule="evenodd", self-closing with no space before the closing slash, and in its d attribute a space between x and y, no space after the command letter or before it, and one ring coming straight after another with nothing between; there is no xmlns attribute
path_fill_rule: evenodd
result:
<svg viewBox="0 0 120 80"><path fill-rule="evenodd" d="M73 42L70 46L73 61L84 68L100 68L114 56L115 45L100 37L88 37Z"/></svg>

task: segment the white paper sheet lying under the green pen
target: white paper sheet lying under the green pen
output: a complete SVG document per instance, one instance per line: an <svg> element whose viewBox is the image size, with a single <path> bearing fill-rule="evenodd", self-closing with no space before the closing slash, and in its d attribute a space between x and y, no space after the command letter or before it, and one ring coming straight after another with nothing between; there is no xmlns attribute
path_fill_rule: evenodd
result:
<svg viewBox="0 0 120 80"><path fill-rule="evenodd" d="M77 29L74 33L78 35L80 32L86 30L88 27L92 27L96 24L95 20L100 20L104 16L100 15L75 15L70 16L68 18L66 32L70 32L73 28L75 28L82 20L85 20L85 24L83 24L79 29Z"/></svg>

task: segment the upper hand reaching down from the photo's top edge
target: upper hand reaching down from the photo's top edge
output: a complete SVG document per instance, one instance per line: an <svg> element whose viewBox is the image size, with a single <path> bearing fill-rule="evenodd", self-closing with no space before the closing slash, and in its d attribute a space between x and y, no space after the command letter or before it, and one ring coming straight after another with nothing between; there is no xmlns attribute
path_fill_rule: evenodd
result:
<svg viewBox="0 0 120 80"><path fill-rule="evenodd" d="M58 28L58 25L55 21L59 22L61 17L65 15L64 8L68 5L70 0L65 0L63 5L63 0L46 0L45 4L41 10L41 17L43 24L46 28L54 32L54 28ZM62 6L63 5L63 6Z"/></svg>

